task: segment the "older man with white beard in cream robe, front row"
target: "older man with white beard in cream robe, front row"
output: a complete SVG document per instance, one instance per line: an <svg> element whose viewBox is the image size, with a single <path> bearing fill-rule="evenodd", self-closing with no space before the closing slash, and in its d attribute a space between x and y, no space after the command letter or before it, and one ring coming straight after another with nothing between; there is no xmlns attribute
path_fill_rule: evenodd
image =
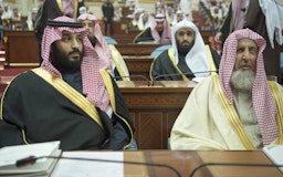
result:
<svg viewBox="0 0 283 177"><path fill-rule="evenodd" d="M249 29L229 35L219 75L202 80L177 117L171 149L255 150L283 144L283 88L266 79L265 44Z"/></svg>

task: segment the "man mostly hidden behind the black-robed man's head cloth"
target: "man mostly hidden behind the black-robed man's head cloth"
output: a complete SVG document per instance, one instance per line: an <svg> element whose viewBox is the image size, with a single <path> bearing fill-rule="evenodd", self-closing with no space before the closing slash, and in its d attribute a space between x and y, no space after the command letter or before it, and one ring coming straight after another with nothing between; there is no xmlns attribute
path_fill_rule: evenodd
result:
<svg viewBox="0 0 283 177"><path fill-rule="evenodd" d="M87 29L87 37L91 40L94 50L108 63L108 70L114 70L114 75L118 80L129 80L127 65L118 50L113 44L107 44L102 34L97 18L90 13L81 14L77 20Z"/></svg>

